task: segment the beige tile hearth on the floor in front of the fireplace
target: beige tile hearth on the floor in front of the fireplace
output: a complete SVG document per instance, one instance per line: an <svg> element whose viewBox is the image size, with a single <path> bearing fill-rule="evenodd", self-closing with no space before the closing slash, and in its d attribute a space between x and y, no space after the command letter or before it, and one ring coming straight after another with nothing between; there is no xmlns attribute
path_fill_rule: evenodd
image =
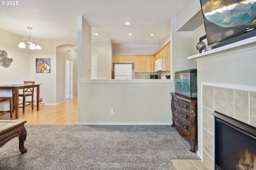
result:
<svg viewBox="0 0 256 170"><path fill-rule="evenodd" d="M200 159L172 159L176 170L209 170Z"/></svg>

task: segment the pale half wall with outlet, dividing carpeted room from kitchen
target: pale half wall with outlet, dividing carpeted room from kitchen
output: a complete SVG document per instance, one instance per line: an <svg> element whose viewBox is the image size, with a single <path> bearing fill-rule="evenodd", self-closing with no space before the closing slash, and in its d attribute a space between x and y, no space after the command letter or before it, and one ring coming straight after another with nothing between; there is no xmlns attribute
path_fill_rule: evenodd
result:
<svg viewBox="0 0 256 170"><path fill-rule="evenodd" d="M79 91L83 95L79 98L78 123L172 124L173 90L170 82L85 80ZM110 113L112 108L114 114Z"/></svg>

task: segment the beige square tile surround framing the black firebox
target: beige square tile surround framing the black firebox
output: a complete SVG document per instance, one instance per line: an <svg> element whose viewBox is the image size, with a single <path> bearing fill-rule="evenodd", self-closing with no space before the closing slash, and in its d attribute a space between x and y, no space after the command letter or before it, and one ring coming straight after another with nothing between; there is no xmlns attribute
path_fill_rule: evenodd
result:
<svg viewBox="0 0 256 170"><path fill-rule="evenodd" d="M214 111L256 127L256 93L250 87L228 84L202 85L202 149L203 162L214 170Z"/></svg>

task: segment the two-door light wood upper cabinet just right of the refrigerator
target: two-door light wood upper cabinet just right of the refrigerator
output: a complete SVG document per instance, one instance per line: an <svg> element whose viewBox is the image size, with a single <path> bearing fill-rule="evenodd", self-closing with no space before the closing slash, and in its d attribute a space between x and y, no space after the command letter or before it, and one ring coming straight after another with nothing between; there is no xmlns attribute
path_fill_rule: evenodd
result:
<svg viewBox="0 0 256 170"><path fill-rule="evenodd" d="M134 56L134 72L154 72L153 56Z"/></svg>

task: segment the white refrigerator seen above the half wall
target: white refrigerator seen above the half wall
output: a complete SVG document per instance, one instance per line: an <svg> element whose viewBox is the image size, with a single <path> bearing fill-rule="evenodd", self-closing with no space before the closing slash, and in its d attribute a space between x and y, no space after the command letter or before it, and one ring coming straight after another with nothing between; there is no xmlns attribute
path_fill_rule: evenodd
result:
<svg viewBox="0 0 256 170"><path fill-rule="evenodd" d="M115 79L132 79L132 64L115 64Z"/></svg>

